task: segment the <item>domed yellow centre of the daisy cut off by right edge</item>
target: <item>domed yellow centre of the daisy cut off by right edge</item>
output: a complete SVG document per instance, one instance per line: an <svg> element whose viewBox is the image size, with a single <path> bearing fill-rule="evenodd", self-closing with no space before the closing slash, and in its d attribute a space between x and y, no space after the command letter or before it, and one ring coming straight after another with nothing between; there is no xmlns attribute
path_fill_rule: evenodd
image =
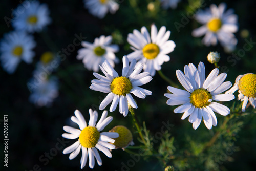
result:
<svg viewBox="0 0 256 171"><path fill-rule="evenodd" d="M238 82L239 90L247 97L256 97L256 74L246 74Z"/></svg>

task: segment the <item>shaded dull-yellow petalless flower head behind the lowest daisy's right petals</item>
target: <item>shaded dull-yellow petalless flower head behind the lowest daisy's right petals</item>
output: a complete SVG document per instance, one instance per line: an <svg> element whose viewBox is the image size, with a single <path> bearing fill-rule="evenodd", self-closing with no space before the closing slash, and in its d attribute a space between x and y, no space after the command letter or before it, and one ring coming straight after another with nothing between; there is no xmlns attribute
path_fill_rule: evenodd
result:
<svg viewBox="0 0 256 171"><path fill-rule="evenodd" d="M119 134L118 138L113 138L115 140L113 145L116 146L116 149L117 148L125 148L133 140L133 135L132 135L131 131L129 129L127 129L127 127L125 127L125 126L120 126L120 125L115 126L109 132L115 132L115 133Z"/></svg>

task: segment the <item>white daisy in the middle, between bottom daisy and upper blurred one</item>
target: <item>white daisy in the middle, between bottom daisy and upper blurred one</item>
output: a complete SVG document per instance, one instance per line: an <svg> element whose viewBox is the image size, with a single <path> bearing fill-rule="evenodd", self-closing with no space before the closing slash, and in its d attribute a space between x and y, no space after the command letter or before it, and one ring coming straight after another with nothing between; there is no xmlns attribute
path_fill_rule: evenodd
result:
<svg viewBox="0 0 256 171"><path fill-rule="evenodd" d="M105 107L113 101L110 106L110 112L115 111L117 104L119 103L119 112L123 114L123 116L127 116L128 103L130 103L133 108L138 108L130 93L139 98L145 98L146 95L152 94L151 91L139 87L152 80L152 77L149 76L150 73L140 73L143 68L142 63L137 67L135 67L135 65L136 60L133 60L129 65L128 58L123 56L122 76L118 75L108 61L105 61L102 63L102 66L100 66L100 69L105 76L93 73L93 75L98 79L92 80L90 89L109 93L101 102L99 106L100 110L105 109Z"/></svg>

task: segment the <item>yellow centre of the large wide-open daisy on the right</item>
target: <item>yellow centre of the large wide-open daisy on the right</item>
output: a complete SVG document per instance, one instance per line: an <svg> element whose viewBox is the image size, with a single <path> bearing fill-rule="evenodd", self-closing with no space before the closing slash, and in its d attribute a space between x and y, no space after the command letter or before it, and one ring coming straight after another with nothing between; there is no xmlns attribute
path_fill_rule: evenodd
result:
<svg viewBox="0 0 256 171"><path fill-rule="evenodd" d="M196 108L203 108L210 104L208 101L212 98L212 95L208 90L205 89L196 89L190 95L190 103L193 104Z"/></svg>

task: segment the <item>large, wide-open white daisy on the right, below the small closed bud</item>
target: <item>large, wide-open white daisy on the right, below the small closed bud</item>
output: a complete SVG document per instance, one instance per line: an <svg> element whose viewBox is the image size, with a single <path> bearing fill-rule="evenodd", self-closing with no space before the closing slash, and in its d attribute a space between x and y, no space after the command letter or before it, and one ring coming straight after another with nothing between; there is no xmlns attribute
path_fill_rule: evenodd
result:
<svg viewBox="0 0 256 171"><path fill-rule="evenodd" d="M202 117L207 129L211 129L212 125L217 125L217 118L214 112L223 116L230 113L229 108L225 105L212 102L215 101L230 101L234 99L232 94L220 94L229 89L232 84L230 81L223 82L227 74L221 73L216 68L211 71L205 79L204 63L200 62L198 68L192 63L184 67L184 73L180 70L176 71L176 75L182 86L187 90L177 89L168 86L171 93L166 93L168 97L168 105L180 105L174 110L174 113L183 113L181 119L189 116L188 121L193 123L193 128L196 130L201 123Z"/></svg>

